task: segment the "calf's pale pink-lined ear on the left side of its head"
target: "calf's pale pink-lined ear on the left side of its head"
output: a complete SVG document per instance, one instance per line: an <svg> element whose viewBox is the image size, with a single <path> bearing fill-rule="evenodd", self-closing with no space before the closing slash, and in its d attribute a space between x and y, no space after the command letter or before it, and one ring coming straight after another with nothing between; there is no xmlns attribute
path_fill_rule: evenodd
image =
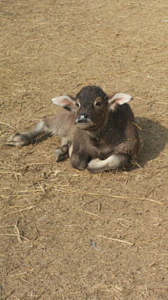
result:
<svg viewBox="0 0 168 300"><path fill-rule="evenodd" d="M75 99L68 95L52 98L51 102L64 107L66 110L73 110L76 107Z"/></svg>

